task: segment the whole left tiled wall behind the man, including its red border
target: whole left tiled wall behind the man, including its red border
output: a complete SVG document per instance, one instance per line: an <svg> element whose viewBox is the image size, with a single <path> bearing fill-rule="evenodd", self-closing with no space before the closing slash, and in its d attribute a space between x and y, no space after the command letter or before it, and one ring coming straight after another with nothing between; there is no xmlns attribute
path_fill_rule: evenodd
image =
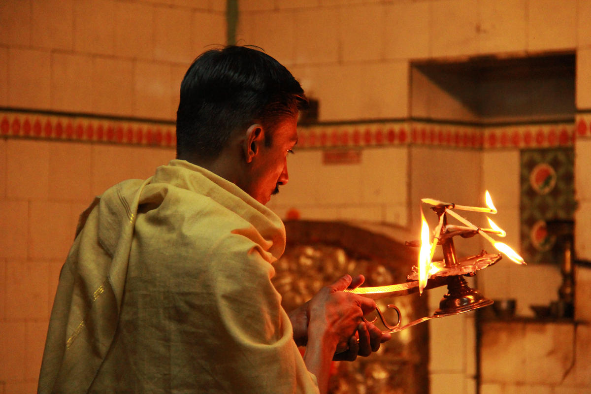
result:
<svg viewBox="0 0 591 394"><path fill-rule="evenodd" d="M36 392L80 212L174 158L180 80L207 45L225 43L225 7L0 2L0 394Z"/></svg>

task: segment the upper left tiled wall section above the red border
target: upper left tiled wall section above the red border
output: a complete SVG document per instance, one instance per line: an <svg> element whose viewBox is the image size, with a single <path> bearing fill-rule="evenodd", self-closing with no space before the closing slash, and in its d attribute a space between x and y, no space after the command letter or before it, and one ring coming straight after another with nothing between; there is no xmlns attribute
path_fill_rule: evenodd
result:
<svg viewBox="0 0 591 394"><path fill-rule="evenodd" d="M0 106L174 119L178 81L225 43L223 0L0 2Z"/></svg>

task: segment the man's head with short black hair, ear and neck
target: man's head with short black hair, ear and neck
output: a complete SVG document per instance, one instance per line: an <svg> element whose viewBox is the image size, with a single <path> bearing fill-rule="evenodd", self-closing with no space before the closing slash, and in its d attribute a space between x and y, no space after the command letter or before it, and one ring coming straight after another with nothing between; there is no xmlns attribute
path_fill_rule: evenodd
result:
<svg viewBox="0 0 591 394"><path fill-rule="evenodd" d="M300 83L262 51L230 46L197 57L180 93L177 158L267 203L287 183L285 155L297 141L298 112L307 108Z"/></svg>

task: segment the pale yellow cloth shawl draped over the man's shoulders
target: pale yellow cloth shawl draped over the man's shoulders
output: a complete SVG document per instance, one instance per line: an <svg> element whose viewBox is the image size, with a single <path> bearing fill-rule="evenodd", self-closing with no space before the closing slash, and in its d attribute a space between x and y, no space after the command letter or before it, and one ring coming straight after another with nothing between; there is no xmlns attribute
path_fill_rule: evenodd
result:
<svg viewBox="0 0 591 394"><path fill-rule="evenodd" d="M60 273L39 393L316 393L271 284L281 220L186 161L95 199Z"/></svg>

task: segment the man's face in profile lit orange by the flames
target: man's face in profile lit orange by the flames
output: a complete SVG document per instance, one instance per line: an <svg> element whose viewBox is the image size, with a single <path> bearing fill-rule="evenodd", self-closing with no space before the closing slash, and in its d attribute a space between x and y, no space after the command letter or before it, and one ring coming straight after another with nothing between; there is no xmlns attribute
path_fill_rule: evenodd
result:
<svg viewBox="0 0 591 394"><path fill-rule="evenodd" d="M271 133L271 145L259 143L258 152L251 163L246 193L261 204L267 204L272 194L288 181L287 155L297 143L297 116L284 118L273 130L265 129L265 138Z"/></svg>

